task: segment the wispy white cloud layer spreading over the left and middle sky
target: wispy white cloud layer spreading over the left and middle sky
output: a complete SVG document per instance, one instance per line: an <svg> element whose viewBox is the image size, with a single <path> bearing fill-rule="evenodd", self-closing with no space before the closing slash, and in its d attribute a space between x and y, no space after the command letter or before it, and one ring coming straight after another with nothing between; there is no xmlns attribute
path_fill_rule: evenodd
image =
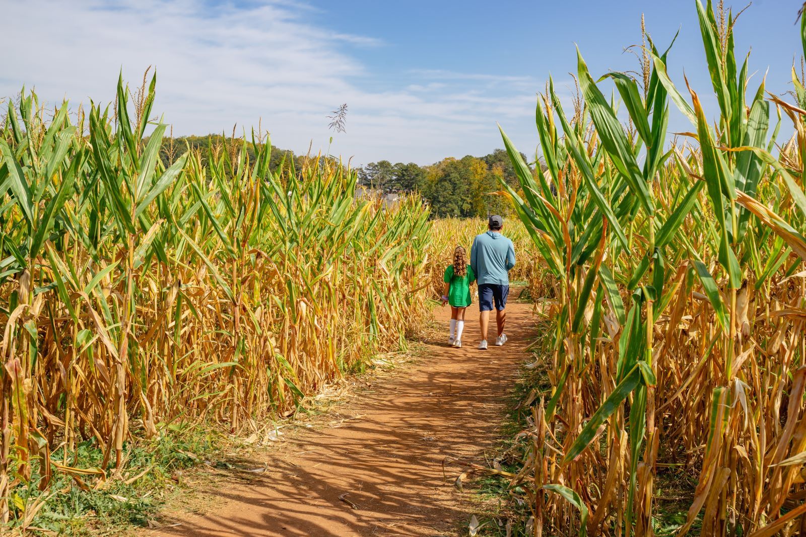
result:
<svg viewBox="0 0 806 537"><path fill-rule="evenodd" d="M6 43L18 46L4 56L0 96L25 84L51 103L110 101L118 70L135 86L154 65L154 110L174 134L231 132L234 123L248 130L262 118L278 146L304 152L313 140L314 151L326 151L326 115L346 102L347 133L334 134L330 151L355 163L481 155L501 147L496 121L521 151L534 151L540 82L423 69L395 87L351 56L355 47L393 48L306 23L314 8L305 3L33 0L2 10L6 21L35 21L35 31L6 24Z"/></svg>

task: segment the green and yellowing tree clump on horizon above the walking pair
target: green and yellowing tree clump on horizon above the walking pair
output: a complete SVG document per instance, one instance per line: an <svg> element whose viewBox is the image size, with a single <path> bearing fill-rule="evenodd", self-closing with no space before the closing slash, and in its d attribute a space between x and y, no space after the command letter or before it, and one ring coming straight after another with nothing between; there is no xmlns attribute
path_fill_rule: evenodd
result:
<svg viewBox="0 0 806 537"><path fill-rule="evenodd" d="M448 157L428 166L381 160L359 168L358 174L361 184L382 192L420 192L436 217L510 213L509 201L491 192L501 190L501 179L517 185L512 163L503 149L483 157Z"/></svg>

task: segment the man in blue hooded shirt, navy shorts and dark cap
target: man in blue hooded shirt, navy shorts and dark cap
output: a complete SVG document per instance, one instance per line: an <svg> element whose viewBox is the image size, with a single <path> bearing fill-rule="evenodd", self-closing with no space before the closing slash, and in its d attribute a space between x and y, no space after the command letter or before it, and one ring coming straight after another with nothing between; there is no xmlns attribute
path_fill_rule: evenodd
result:
<svg viewBox="0 0 806 537"><path fill-rule="evenodd" d="M496 345L504 345L507 337L504 333L506 321L506 298L509 295L509 270L515 266L515 247L508 238L501 234L504 219L493 215L488 221L488 231L476 235L470 250L470 266L476 274L479 284L479 322L481 324L481 343L479 349L487 349L487 327L490 312L495 305L498 337Z"/></svg>

